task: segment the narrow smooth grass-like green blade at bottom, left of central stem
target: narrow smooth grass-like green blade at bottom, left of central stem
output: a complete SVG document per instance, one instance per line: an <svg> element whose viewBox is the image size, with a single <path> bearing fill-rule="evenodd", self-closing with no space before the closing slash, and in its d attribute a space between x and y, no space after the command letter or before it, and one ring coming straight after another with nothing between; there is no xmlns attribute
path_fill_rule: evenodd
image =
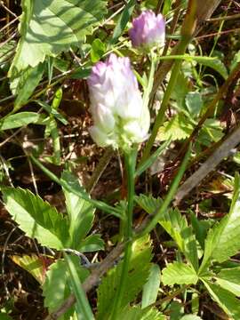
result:
<svg viewBox="0 0 240 320"><path fill-rule="evenodd" d="M84 292L84 288L81 284L80 277L78 276L79 266L76 265L73 257L65 255L65 260L68 266L69 280L71 283L72 291L76 297L76 316L78 319L94 320L92 314L92 308Z"/></svg>

